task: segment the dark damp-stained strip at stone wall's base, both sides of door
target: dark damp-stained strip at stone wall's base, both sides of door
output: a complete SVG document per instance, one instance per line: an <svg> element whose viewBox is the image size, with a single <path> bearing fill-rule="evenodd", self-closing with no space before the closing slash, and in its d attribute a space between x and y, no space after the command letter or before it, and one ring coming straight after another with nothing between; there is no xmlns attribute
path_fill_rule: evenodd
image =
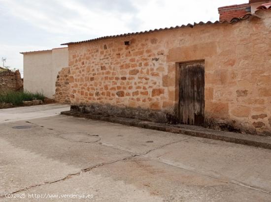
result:
<svg viewBox="0 0 271 202"><path fill-rule="evenodd" d="M91 115L135 118L158 123L178 123L177 113L159 110L146 110L140 107L119 107L110 104L93 103L90 105L71 105L70 110L81 113L89 113ZM177 110L175 112L177 112ZM204 127L221 131L271 136L271 131L267 129L251 127L249 124L245 125L240 121L230 119L205 118Z"/></svg>

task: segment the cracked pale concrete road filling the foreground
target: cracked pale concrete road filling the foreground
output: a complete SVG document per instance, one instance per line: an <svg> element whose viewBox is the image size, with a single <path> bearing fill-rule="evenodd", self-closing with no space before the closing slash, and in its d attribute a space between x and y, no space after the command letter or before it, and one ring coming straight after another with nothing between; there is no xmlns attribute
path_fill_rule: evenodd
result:
<svg viewBox="0 0 271 202"><path fill-rule="evenodd" d="M0 201L271 201L271 150L64 110L0 110Z"/></svg>

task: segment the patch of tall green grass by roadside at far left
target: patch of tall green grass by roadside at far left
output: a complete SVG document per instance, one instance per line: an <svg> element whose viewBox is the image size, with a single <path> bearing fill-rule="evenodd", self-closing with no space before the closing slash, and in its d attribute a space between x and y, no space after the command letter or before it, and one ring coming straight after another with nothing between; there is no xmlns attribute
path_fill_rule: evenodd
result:
<svg viewBox="0 0 271 202"><path fill-rule="evenodd" d="M23 101L31 101L34 99L44 100L45 96L40 92L29 91L8 91L0 94L0 103L12 103L13 105L22 105Z"/></svg>

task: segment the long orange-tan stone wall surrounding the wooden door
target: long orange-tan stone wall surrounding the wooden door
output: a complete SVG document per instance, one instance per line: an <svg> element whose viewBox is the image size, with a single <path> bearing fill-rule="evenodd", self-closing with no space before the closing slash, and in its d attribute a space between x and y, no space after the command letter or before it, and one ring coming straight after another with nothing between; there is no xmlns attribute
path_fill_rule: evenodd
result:
<svg viewBox="0 0 271 202"><path fill-rule="evenodd" d="M71 44L71 105L93 106L92 111L104 105L109 112L117 107L123 116L132 108L176 117L178 63L204 60L205 125L270 134L271 12L257 15L261 19Z"/></svg>

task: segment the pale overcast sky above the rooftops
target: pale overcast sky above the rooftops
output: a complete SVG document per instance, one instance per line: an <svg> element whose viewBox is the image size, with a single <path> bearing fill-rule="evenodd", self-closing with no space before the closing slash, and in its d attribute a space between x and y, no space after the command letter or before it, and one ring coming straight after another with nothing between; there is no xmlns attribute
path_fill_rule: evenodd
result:
<svg viewBox="0 0 271 202"><path fill-rule="evenodd" d="M216 21L217 8L248 0L0 0L0 59L105 35ZM0 66L2 64L0 63Z"/></svg>

